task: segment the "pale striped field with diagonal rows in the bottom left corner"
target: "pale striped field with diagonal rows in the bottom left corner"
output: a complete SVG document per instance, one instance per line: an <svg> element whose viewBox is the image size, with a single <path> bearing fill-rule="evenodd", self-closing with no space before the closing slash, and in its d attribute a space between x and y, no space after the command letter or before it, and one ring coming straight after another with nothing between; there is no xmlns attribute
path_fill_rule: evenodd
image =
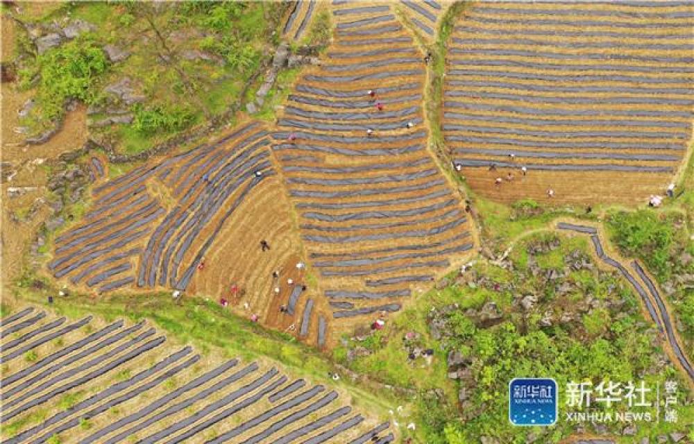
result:
<svg viewBox="0 0 694 444"><path fill-rule="evenodd" d="M394 440L389 423L329 387L262 362L202 357L145 323L73 322L28 308L0 325L3 443Z"/></svg>

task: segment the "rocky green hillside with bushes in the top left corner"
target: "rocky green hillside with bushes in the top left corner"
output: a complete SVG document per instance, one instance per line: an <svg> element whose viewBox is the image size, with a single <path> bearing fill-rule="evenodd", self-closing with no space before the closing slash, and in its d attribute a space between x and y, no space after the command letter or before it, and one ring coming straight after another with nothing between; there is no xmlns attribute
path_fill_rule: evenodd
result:
<svg viewBox="0 0 694 444"><path fill-rule="evenodd" d="M228 123L243 109L245 90L278 44L287 3L107 2L61 3L60 8L26 8L17 18L32 26L69 24L79 19L91 31L41 55L21 45L24 87L37 105L24 118L32 132L49 128L76 99L92 107L93 123L112 112L132 114L132 123L98 124L92 137L118 151L139 153L205 123ZM328 22L329 24L329 22ZM316 33L324 33L316 28ZM322 35L322 34L321 34ZM19 33L19 40L28 40ZM124 60L109 62L113 45ZM128 79L124 99L105 88ZM108 120L105 120L108 122Z"/></svg>

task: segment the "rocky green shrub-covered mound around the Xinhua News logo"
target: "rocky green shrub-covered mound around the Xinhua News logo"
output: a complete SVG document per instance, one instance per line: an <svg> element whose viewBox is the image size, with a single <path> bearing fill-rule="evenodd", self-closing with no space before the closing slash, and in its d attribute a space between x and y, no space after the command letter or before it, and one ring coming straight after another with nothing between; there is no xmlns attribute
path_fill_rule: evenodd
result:
<svg viewBox="0 0 694 444"><path fill-rule="evenodd" d="M672 366L654 370L662 350L651 343L649 324L624 280L595 267L568 268L564 257L590 262L589 248L584 237L539 233L524 238L509 255L514 272L481 262L467 272L470 274L450 275L448 286L425 293L412 307L389 319L387 330L345 336L333 357L360 374L418 393L412 413L418 423L413 434L416 442L476 443L488 436L500 443L521 444L530 434L539 437L536 442L559 442L573 433L573 424L560 419L556 426L546 428L510 425L507 384L511 377L554 377L562 391L570 381L628 382L645 374L648 384L663 384L666 379L681 378ZM550 280L545 271L532 273L531 261L540 269L543 263L551 264L560 277ZM559 293L557 288L564 282L570 291ZM518 302L528 294L537 298L530 311ZM600 305L592 307L586 302L591 298L600 300ZM489 302L500 311L496 323L480 321ZM551 325L542 322L546 313L552 314ZM561 314L571 314L573 320L559 322ZM437 327L439 333L434 336L432 319L440 316L446 327ZM413 333L416 339L407 342L409 347L432 348L431 364L408 358L404 338ZM448 378L447 357L452 351L469 360L471 384ZM684 399L684 379L679 385L679 396ZM461 404L457 394L463 386L468 397ZM682 406L679 416L680 424L682 418L687 418L684 423L691 421L694 408ZM638 436L673 430L677 426L661 422L648 429L641 427ZM631 439L620 442L630 443Z"/></svg>

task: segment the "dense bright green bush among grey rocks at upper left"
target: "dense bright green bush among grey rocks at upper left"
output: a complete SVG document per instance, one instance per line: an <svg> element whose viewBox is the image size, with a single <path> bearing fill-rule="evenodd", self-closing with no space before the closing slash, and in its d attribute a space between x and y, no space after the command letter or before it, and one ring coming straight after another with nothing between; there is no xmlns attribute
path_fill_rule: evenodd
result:
<svg viewBox="0 0 694 444"><path fill-rule="evenodd" d="M68 99L93 103L93 85L99 74L108 69L108 60L88 40L74 40L46 51L37 58L40 83L37 99L46 119L62 117Z"/></svg>

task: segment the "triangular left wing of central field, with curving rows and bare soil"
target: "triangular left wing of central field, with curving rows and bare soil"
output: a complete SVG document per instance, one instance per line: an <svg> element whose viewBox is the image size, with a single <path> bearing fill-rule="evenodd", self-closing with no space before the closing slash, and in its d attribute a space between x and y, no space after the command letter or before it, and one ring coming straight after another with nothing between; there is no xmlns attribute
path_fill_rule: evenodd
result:
<svg viewBox="0 0 694 444"><path fill-rule="evenodd" d="M234 296L264 314L289 297L286 286L272 293L271 276L291 270L300 248L269 146L266 128L250 123L99 185L84 220L56 239L53 275L99 292Z"/></svg>

